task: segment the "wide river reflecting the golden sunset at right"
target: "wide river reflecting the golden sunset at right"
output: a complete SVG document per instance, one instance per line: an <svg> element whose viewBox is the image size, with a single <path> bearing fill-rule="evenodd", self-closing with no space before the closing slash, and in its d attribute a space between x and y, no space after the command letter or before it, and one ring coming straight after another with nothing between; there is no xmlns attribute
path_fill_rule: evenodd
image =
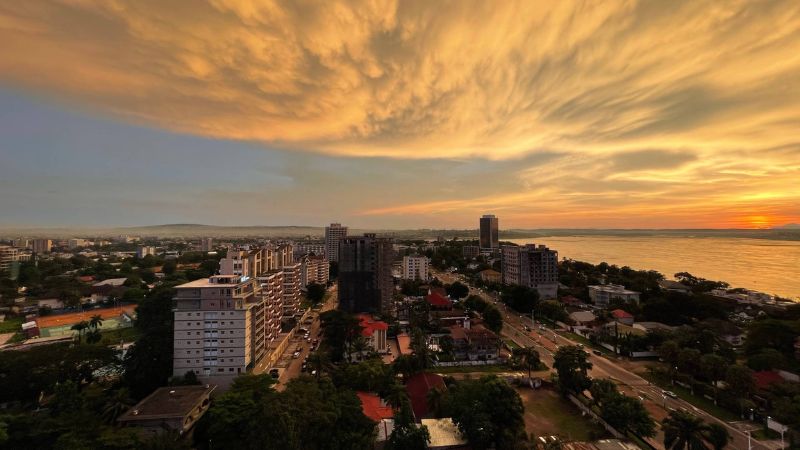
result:
<svg viewBox="0 0 800 450"><path fill-rule="evenodd" d="M553 236L511 239L545 244L559 258L656 270L672 278L689 272L731 287L800 301L800 241L667 236Z"/></svg>

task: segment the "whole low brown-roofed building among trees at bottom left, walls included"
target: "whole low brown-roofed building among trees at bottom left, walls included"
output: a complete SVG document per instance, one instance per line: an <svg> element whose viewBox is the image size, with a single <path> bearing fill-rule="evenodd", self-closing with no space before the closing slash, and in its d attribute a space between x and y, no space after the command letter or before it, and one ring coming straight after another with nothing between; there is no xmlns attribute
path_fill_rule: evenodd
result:
<svg viewBox="0 0 800 450"><path fill-rule="evenodd" d="M152 394L119 416L117 422L126 427L143 429L147 434L189 431L208 410L215 385L169 386Z"/></svg>

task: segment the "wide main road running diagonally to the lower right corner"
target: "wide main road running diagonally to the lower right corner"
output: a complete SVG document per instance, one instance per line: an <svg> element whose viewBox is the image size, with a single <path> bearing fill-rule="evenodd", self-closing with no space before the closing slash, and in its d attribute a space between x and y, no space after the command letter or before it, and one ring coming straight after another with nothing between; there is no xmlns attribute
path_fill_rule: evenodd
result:
<svg viewBox="0 0 800 450"><path fill-rule="evenodd" d="M452 283L454 281L465 283L464 279L460 278L458 275L439 272L436 273L435 276L445 283ZM552 329L541 330L538 324L534 326L530 317L520 316L519 313L506 307L505 304L497 302L496 298L493 298L482 290L475 289L470 286L470 295L479 295L485 301L496 303L497 308L503 314L504 326L502 334L513 339L515 342L524 344L525 346L534 347L539 352L542 361L547 364L548 367L553 367L553 353L558 349L558 346L578 345L577 342L574 342L562 336L561 334L554 332ZM534 331L531 331L530 333L525 331L525 326L528 326ZM780 448L779 444L776 444L772 441L765 443L756 441L755 439L750 441L750 446L748 447L747 435L738 428L731 426L729 423L717 419L713 415L695 407L685 400L680 398L673 399L664 396L660 387L651 384L649 381L645 380L639 375L636 375L624 367L619 366L613 360L594 354L589 357L589 360L592 362L592 370L590 371L590 375L593 378L610 378L615 380L617 383L622 385L623 391L628 393L636 393L640 398L642 398L649 411L660 409L664 412L663 415L666 416L669 410L680 409L700 417L706 422L719 423L725 426L731 435L732 440L729 444L730 447L737 450L774 450ZM660 418L656 417L656 419ZM659 430L659 435L651 442L653 444L660 444L661 436L662 435Z"/></svg>

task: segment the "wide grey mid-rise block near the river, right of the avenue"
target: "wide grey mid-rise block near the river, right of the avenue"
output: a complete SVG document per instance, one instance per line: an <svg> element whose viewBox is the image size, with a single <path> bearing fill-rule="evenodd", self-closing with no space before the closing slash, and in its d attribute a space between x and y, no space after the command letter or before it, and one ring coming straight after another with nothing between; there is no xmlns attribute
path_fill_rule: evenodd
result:
<svg viewBox="0 0 800 450"><path fill-rule="evenodd" d="M502 247L503 283L536 289L543 300L558 295L558 252L544 245Z"/></svg>

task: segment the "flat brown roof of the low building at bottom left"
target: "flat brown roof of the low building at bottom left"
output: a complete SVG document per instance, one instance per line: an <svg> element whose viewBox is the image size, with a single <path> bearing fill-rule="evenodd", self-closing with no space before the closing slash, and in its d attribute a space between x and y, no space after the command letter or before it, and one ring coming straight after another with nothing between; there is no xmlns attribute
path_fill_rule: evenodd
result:
<svg viewBox="0 0 800 450"><path fill-rule="evenodd" d="M216 388L216 385L158 388L117 420L127 422L173 417L182 418L192 412L198 404L208 401L208 396Z"/></svg>

